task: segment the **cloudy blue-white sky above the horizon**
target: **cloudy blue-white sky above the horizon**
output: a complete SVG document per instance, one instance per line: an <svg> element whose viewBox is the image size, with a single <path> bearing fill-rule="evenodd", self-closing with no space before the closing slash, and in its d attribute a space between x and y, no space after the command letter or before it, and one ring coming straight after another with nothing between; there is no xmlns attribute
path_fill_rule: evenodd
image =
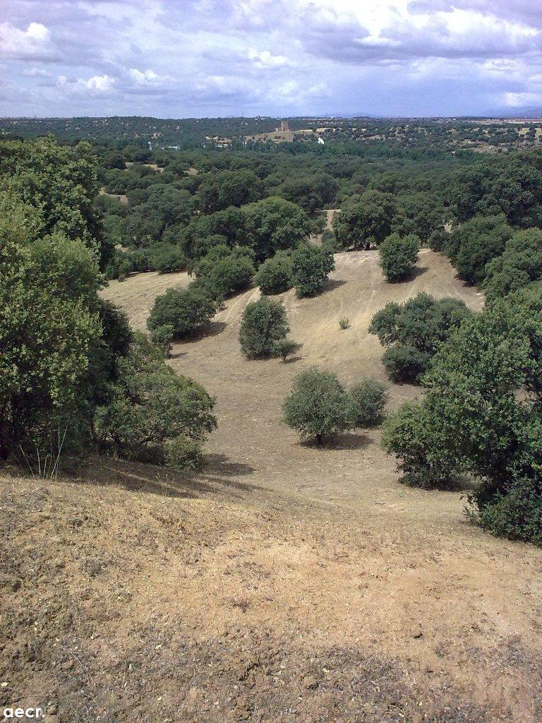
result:
<svg viewBox="0 0 542 723"><path fill-rule="evenodd" d="M542 0L0 0L0 116L542 106Z"/></svg>

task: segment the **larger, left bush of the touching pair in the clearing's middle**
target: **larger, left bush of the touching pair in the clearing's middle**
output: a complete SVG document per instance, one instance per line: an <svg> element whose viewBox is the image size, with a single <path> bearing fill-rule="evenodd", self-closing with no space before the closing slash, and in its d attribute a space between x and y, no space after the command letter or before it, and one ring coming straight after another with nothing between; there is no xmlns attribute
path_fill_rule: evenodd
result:
<svg viewBox="0 0 542 723"><path fill-rule="evenodd" d="M352 429L348 396L334 372L307 369L293 380L283 403L283 421L296 429L301 439L316 439Z"/></svg>

